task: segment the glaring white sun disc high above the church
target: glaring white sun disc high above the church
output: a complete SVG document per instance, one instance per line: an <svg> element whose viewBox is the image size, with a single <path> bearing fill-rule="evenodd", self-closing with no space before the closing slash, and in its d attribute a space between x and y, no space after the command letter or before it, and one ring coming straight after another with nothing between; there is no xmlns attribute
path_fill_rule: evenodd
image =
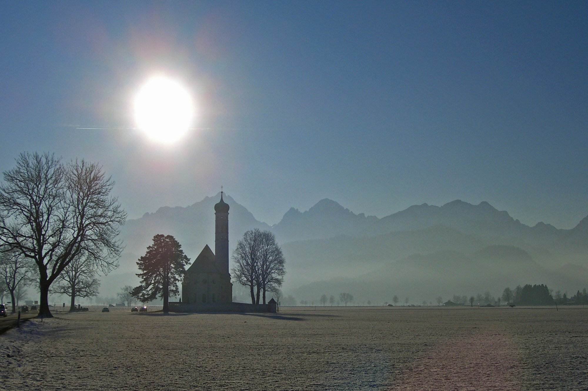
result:
<svg viewBox="0 0 588 391"><path fill-rule="evenodd" d="M135 96L134 109L138 128L153 141L168 144L188 132L194 116L188 90L166 76L145 82Z"/></svg>

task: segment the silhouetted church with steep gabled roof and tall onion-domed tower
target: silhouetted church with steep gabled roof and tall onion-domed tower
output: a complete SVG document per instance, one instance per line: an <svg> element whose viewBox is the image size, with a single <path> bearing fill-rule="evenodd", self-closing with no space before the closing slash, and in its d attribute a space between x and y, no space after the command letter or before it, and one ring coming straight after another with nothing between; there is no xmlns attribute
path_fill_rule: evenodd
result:
<svg viewBox="0 0 588 391"><path fill-rule="evenodd" d="M222 304L233 300L229 274L229 204L222 199L215 205L215 252L208 245L186 270L182 283L185 304Z"/></svg>

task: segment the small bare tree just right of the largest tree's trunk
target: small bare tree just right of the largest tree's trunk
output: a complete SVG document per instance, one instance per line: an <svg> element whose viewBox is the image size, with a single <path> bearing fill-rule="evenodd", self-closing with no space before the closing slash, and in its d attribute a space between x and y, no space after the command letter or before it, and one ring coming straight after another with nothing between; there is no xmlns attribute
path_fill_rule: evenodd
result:
<svg viewBox="0 0 588 391"><path fill-rule="evenodd" d="M69 296L69 310L75 310L75 298L89 298L98 295L100 282L91 259L84 254L76 256L55 280L50 292Z"/></svg>

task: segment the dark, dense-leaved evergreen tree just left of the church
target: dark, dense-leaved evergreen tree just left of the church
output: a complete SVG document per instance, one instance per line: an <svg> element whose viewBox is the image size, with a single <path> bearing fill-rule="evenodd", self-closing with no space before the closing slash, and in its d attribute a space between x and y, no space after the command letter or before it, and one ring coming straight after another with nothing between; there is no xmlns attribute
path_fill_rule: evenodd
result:
<svg viewBox="0 0 588 391"><path fill-rule="evenodd" d="M169 295L178 296L178 282L190 260L182 246L171 235L153 236L153 244L137 262L141 285L133 289L133 296L145 303L159 296L163 299L163 312L169 312Z"/></svg>

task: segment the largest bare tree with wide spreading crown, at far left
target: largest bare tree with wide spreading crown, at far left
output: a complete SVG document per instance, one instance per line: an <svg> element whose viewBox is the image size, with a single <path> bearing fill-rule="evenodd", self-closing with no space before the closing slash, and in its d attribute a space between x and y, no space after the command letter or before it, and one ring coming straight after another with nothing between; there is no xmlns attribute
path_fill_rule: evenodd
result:
<svg viewBox="0 0 588 391"><path fill-rule="evenodd" d="M61 162L50 153L21 153L0 185L0 245L34 260L39 270L39 316L51 317L51 284L85 253L96 269L116 267L116 239L126 213L111 196L102 167Z"/></svg>

